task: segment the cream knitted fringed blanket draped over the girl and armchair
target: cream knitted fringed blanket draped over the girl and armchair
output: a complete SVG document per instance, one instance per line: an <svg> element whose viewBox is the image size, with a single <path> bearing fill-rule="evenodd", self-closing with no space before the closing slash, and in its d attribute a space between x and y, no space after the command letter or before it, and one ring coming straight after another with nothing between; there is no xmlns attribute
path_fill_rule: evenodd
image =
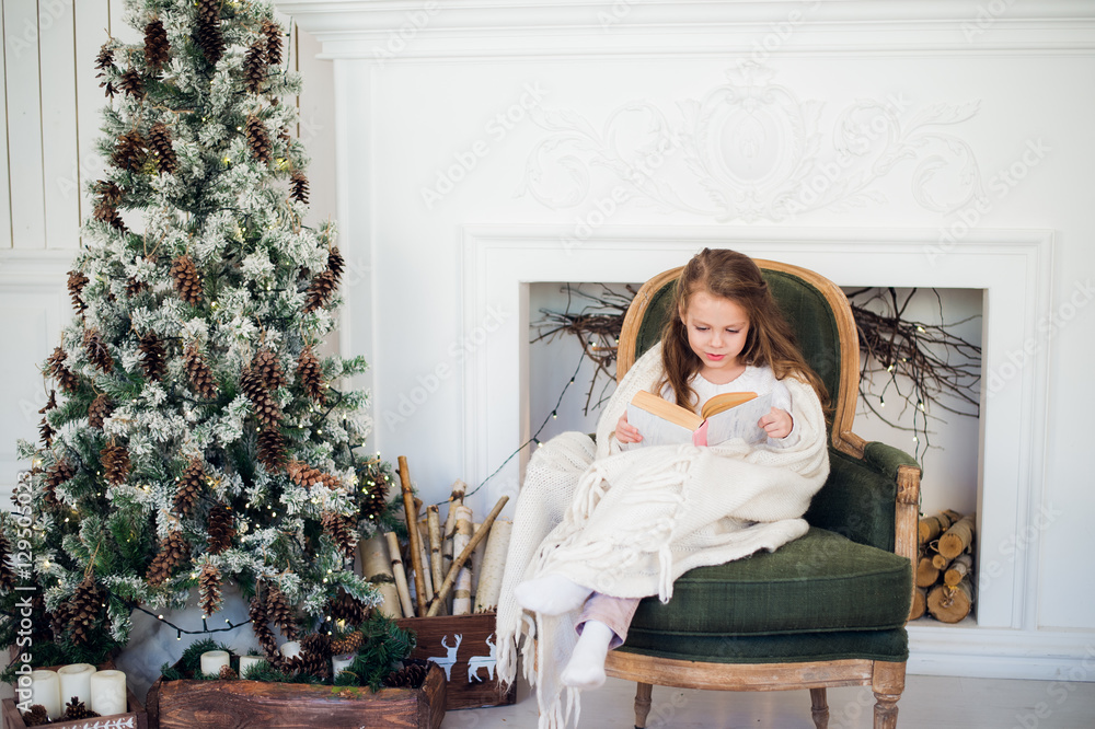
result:
<svg viewBox="0 0 1095 729"><path fill-rule="evenodd" d="M784 382L799 432L792 447L731 441L622 451L615 424L660 373L659 345L635 362L609 401L596 449L588 436L567 432L529 461L498 603L497 670L500 681L512 683L521 655L537 686L540 729L577 725L578 692L560 681L577 614L530 614L514 600L517 585L561 574L613 597L656 594L667 602L673 580L694 567L773 551L805 534L802 514L829 473L821 405L809 385L789 378Z"/></svg>

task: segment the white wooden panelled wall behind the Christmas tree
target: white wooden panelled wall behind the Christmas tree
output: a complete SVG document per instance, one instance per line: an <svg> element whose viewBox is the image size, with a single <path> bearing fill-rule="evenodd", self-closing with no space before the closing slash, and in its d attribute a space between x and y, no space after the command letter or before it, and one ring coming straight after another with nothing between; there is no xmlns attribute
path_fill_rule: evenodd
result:
<svg viewBox="0 0 1095 729"><path fill-rule="evenodd" d="M15 460L15 440L37 439L37 410L48 395L38 367L71 315L66 271L93 207L88 184L104 170L95 146L107 100L95 56L107 34L128 43L142 35L125 23L122 0L3 0L2 9L0 499L7 500L25 467ZM311 35L293 28L288 46L306 78L297 131L312 157L314 222L335 217L333 76L331 62L316 59ZM360 263L350 263L347 278L359 280Z"/></svg>

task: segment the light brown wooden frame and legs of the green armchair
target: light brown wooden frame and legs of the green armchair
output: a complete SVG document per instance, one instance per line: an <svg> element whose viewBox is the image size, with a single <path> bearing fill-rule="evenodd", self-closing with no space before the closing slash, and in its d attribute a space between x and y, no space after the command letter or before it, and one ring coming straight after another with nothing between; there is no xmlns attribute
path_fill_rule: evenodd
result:
<svg viewBox="0 0 1095 729"><path fill-rule="evenodd" d="M783 271L812 285L825 296L837 319L841 346L841 382L833 402L832 447L857 459L864 455L866 441L852 432L855 401L858 395L860 348L855 320L844 293L829 279L806 268L757 259L761 269ZM654 294L675 280L680 268L667 270L647 281L635 296L624 317L620 334L616 378L622 379L635 361L635 339L643 316ZM907 557L915 571L917 520L920 501L920 468L901 465L897 474L895 553ZM608 675L635 681L635 726L646 727L654 685L712 691L785 691L809 688L814 722L818 729L829 725L826 688L829 686L871 686L875 694L874 729L897 727L897 702L904 690L904 662L871 659L828 660L784 663L716 663L683 661L610 651Z"/></svg>

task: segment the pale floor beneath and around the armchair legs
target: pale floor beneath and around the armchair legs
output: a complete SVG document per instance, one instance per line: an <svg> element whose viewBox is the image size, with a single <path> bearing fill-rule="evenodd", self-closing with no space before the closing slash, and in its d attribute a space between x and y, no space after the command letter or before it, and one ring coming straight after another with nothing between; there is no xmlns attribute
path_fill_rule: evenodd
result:
<svg viewBox="0 0 1095 729"><path fill-rule="evenodd" d="M869 688L830 688L829 729L871 729ZM633 726L635 684L616 679L581 699L581 729ZM899 729L1095 729L1095 683L910 675L898 704ZM441 729L537 726L535 696L518 684L517 703L449 711ZM649 729L814 729L807 691L756 693L655 686Z"/></svg>

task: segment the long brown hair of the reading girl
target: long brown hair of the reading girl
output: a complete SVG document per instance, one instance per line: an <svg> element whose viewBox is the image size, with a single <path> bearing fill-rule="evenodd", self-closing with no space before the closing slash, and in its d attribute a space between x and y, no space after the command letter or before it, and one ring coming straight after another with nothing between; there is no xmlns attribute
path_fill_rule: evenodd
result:
<svg viewBox="0 0 1095 729"><path fill-rule="evenodd" d="M692 296L706 291L729 299L741 306L749 317L749 331L741 359L746 364L771 367L777 380L797 378L817 392L821 407L828 412L829 393L825 383L798 350L791 326L769 291L760 268L747 255L726 248L704 248L692 257L677 278L672 313L661 331L661 364L665 370L656 392L668 384L684 407L695 407L698 395L691 381L703 368L703 361L688 344L688 329L681 315L688 311Z"/></svg>

